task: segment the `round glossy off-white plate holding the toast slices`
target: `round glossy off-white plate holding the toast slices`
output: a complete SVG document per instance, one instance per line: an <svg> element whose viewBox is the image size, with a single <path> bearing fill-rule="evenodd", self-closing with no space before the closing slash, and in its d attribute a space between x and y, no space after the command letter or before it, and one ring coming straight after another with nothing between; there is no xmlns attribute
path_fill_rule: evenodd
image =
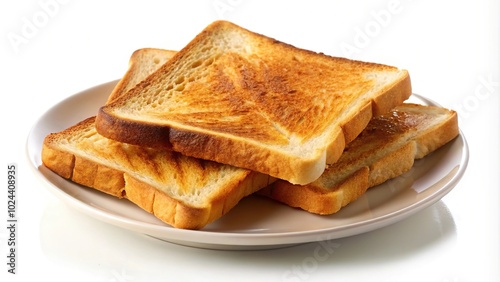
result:
<svg viewBox="0 0 500 282"><path fill-rule="evenodd" d="M110 224L177 244L212 249L269 249L368 232L437 202L458 183L468 162L467 143L460 133L449 144L417 161L408 173L371 188L337 214L314 215L250 196L203 230L175 229L127 200L67 181L41 163L44 137L95 115L115 84L112 81L90 88L47 111L28 136L28 158L35 174L70 206ZM436 105L416 94L410 100Z"/></svg>

